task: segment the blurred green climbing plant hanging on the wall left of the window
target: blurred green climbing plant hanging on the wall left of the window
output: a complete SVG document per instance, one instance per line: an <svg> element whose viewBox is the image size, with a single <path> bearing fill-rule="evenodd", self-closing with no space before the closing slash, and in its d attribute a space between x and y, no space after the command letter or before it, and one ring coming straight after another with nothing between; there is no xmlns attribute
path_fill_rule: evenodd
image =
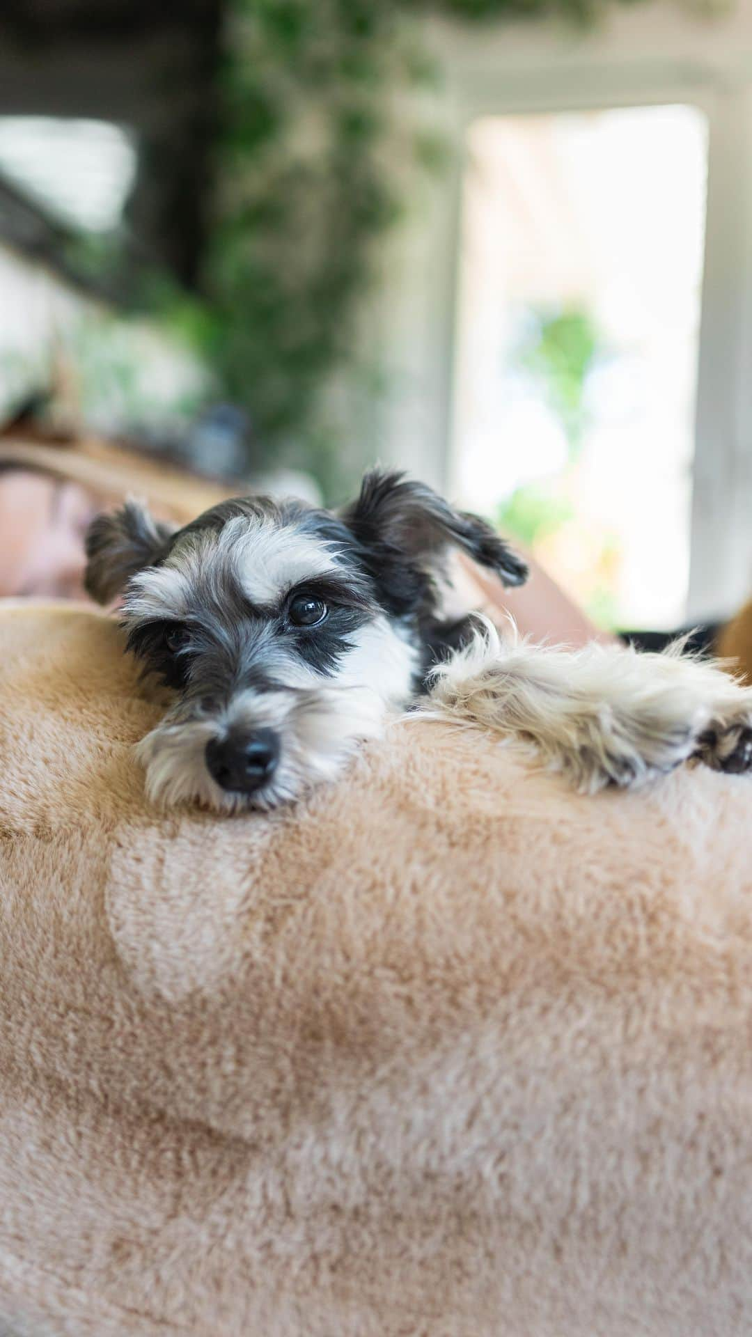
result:
<svg viewBox="0 0 752 1337"><path fill-rule="evenodd" d="M355 356L373 242L403 215L416 174L447 160L408 96L440 78L416 17L582 20L595 4L230 0L202 340L265 463L305 463L331 483L337 447L322 390Z"/></svg>

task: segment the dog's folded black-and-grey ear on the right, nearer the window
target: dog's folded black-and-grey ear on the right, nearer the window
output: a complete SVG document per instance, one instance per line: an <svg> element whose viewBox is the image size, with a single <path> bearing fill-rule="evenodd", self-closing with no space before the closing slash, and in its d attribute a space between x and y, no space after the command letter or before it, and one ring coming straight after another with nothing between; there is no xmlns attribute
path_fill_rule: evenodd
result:
<svg viewBox="0 0 752 1337"><path fill-rule="evenodd" d="M486 520L454 511L430 487L404 473L367 473L360 496L345 508L343 520L361 547L373 554L376 567L397 556L431 567L446 548L455 547L495 571L506 586L527 579L526 563Z"/></svg>

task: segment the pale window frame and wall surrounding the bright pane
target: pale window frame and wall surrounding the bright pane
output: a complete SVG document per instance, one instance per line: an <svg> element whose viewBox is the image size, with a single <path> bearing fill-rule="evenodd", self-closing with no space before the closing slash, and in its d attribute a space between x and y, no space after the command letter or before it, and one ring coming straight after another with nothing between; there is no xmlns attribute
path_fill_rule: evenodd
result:
<svg viewBox="0 0 752 1337"><path fill-rule="evenodd" d="M612 11L586 33L554 20L430 25L446 71L454 170L423 218L423 262L401 302L408 329L431 325L412 365L431 408L404 417L387 452L451 491L462 193L467 132L482 116L525 116L686 104L708 124L688 620L719 616L752 592L752 0L702 19L653 3ZM415 225L413 225L415 227ZM416 254L415 231L412 254ZM417 286L431 274L428 294ZM440 282L436 277L442 275ZM393 310L393 308L392 308ZM403 336L404 337L404 336ZM407 348L407 342L404 345ZM408 413L409 418L409 413ZM415 431L417 427L417 431ZM428 433L432 436L428 436Z"/></svg>

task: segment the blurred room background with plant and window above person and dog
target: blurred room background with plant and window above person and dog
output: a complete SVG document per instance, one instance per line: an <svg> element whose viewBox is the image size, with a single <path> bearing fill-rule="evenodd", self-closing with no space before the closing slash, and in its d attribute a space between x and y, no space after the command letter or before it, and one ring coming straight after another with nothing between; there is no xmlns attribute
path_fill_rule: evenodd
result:
<svg viewBox="0 0 752 1337"><path fill-rule="evenodd" d="M4 0L0 431L752 584L752 0Z"/></svg>

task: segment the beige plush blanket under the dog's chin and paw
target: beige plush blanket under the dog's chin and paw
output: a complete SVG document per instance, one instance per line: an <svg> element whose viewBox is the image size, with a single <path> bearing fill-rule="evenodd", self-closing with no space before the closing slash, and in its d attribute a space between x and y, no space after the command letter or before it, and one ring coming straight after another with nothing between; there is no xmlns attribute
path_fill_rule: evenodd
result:
<svg viewBox="0 0 752 1337"><path fill-rule="evenodd" d="M0 679L3 1337L752 1332L752 781L411 722L161 816L111 623Z"/></svg>

